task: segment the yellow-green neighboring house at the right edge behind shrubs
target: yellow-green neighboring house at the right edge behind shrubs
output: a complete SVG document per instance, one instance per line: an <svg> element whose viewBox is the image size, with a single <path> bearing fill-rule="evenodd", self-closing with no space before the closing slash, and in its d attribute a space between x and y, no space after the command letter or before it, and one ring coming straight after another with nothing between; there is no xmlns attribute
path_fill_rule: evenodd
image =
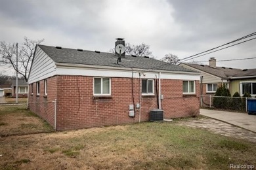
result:
<svg viewBox="0 0 256 170"><path fill-rule="evenodd" d="M232 86L230 93L239 92L242 96L247 92L252 97L256 96L256 69L244 69L229 78Z"/></svg>

